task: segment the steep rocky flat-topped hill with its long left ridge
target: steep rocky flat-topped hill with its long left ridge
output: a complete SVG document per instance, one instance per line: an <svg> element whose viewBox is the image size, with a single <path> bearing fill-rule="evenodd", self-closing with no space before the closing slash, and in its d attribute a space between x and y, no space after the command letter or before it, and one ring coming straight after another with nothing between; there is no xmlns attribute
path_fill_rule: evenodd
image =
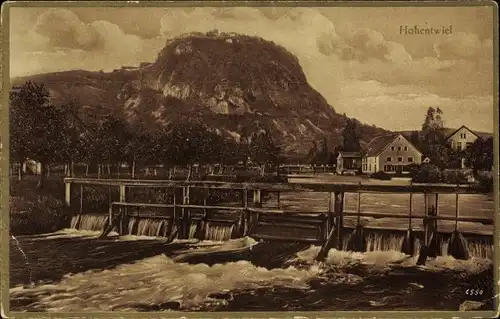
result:
<svg viewBox="0 0 500 319"><path fill-rule="evenodd" d="M84 120L110 113L151 129L197 114L236 140L271 131L284 152L305 154L313 140L340 143L346 117L308 83L295 56L238 34L188 34L169 40L153 63L111 73L74 70L13 79L44 83L55 104L75 101ZM332 83L334 86L335 83ZM384 133L361 125L368 142Z"/></svg>

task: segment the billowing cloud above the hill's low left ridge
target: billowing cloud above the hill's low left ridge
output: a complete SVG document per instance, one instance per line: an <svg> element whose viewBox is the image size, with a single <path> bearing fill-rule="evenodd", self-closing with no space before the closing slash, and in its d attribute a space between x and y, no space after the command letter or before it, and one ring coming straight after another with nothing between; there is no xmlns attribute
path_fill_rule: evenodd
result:
<svg viewBox="0 0 500 319"><path fill-rule="evenodd" d="M152 61L164 39L143 39L118 25L98 20L82 22L67 9L49 9L26 34L11 35L11 74L68 69L112 71L122 65ZM57 63L54 63L57 61Z"/></svg>

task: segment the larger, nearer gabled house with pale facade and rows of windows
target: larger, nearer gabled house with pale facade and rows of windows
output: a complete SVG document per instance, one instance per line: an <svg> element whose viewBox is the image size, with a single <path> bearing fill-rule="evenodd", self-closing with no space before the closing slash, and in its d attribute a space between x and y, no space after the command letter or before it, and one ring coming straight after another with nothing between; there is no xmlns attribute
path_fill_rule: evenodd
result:
<svg viewBox="0 0 500 319"><path fill-rule="evenodd" d="M401 133L375 137L362 152L362 172L366 174L403 174L409 172L410 165L421 163L422 152Z"/></svg>

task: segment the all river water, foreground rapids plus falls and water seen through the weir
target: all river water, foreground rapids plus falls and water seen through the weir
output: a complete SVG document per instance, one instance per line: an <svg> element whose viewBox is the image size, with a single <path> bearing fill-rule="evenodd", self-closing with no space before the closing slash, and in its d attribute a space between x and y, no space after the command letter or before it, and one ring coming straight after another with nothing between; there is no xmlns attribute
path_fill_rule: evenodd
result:
<svg viewBox="0 0 500 319"><path fill-rule="evenodd" d="M355 211L357 195L347 194L345 207ZM423 198L413 197L415 214ZM440 214L455 214L455 197L440 197ZM270 197L265 206L276 206ZM327 194L282 194L287 210L325 211ZM482 195L461 196L461 216L493 217L493 201ZM363 194L362 211L407 214L406 195ZM400 252L407 221L363 218L368 251L330 250L314 260L320 247L231 239L231 225L205 227L199 242L196 226L189 239L164 245L173 225L158 219L131 218L127 236L99 239L105 215L82 215L72 227L56 233L12 239L10 294L15 311L307 311L307 310L458 310L467 289L480 289L482 309L492 309L492 243L468 239L472 258L442 256L425 266ZM356 218L346 218L354 226ZM412 229L421 229L421 220ZM440 223L441 230L455 225ZM459 223L459 230L491 234L493 228ZM346 240L346 239L345 239ZM345 245L345 243L344 243ZM419 249L416 239L415 252ZM27 257L25 257L27 256Z"/></svg>

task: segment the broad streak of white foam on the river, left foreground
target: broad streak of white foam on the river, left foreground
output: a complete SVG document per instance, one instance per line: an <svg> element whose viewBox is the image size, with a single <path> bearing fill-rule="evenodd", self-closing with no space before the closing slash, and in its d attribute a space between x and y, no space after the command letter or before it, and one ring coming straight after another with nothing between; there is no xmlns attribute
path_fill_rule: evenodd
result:
<svg viewBox="0 0 500 319"><path fill-rule="evenodd" d="M190 265L155 256L113 270L87 271L65 277L57 285L10 290L11 298L37 295L35 308L50 312L136 311L133 305L179 302L184 309L213 302L209 295L234 289L284 286L307 289L319 267L267 270L248 261Z"/></svg>

